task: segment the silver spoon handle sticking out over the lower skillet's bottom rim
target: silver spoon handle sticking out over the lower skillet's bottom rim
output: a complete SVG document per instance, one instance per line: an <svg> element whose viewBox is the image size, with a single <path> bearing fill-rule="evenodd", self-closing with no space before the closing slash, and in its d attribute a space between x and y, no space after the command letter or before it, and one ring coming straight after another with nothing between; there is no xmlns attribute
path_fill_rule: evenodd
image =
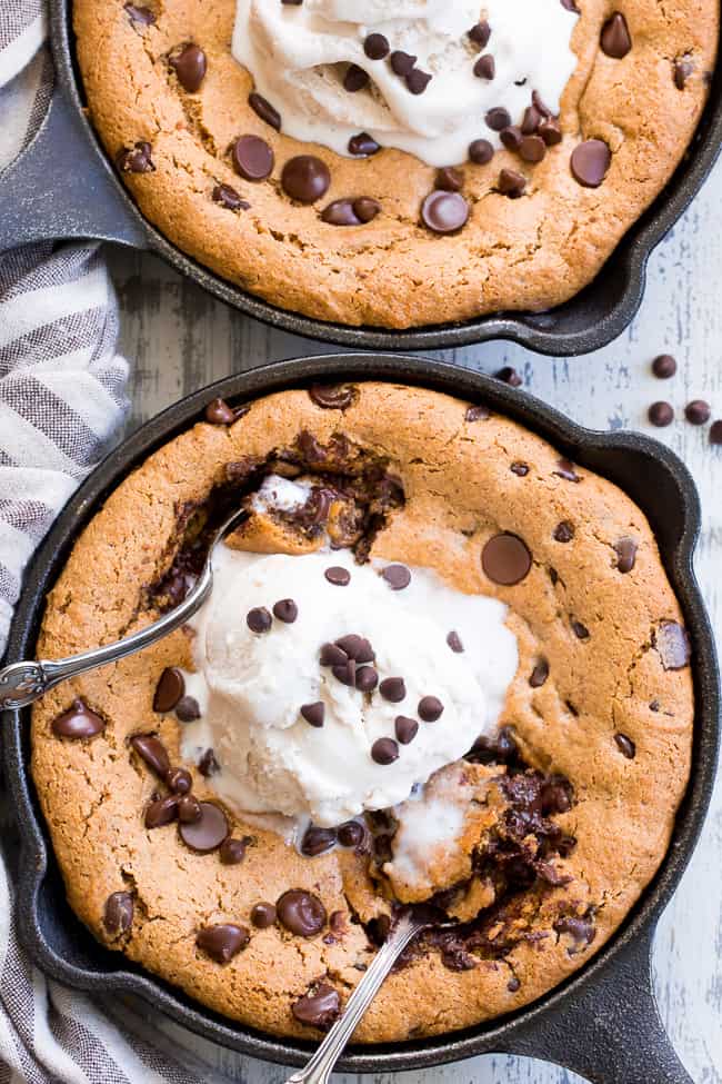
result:
<svg viewBox="0 0 722 1084"><path fill-rule="evenodd" d="M285 1084L328 1084L343 1047L378 994L384 978L409 942L425 925L425 922L414 918L409 912L401 915L363 978L351 994L343 1010L343 1015L335 1022L305 1068L299 1070L298 1073L290 1076Z"/></svg>

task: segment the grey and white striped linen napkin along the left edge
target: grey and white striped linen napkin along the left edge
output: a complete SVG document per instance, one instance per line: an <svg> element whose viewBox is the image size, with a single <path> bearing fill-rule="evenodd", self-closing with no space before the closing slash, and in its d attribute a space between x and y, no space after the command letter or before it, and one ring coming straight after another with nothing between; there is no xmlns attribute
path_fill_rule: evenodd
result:
<svg viewBox="0 0 722 1084"><path fill-rule="evenodd" d="M0 170L50 99L44 37L41 0L0 0ZM0 256L0 657L28 559L123 418L128 366L117 331L97 245ZM16 858L0 780L0 1084L195 1084L97 1001L33 966L16 934Z"/></svg>

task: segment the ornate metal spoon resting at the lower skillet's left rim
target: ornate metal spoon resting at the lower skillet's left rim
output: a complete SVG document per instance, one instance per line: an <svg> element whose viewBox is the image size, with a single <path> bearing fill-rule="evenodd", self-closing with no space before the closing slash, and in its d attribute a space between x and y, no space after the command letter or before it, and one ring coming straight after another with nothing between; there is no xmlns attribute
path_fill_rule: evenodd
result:
<svg viewBox="0 0 722 1084"><path fill-rule="evenodd" d="M104 647L93 648L91 652L83 652L81 655L72 655L70 658L60 658L56 662L41 659L38 662L12 663L0 670L0 709L26 707L39 699L49 689L54 688L60 682L67 682L71 677L92 670L97 666L106 666L108 663L117 663L128 655L136 655L144 647L150 647L157 640L174 631L183 625L203 605L211 593L213 586L213 569L211 558L213 550L227 535L239 527L250 513L245 508L240 508L229 516L213 536L213 540L208 550L205 565L198 577L198 580L188 593L182 603L168 614L163 614L152 625L126 636L122 640L114 644L106 644Z"/></svg>

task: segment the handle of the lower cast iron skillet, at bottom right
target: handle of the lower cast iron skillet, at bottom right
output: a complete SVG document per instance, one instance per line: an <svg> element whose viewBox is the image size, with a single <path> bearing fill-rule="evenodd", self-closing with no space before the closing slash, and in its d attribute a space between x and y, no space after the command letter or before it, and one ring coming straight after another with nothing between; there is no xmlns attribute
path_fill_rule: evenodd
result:
<svg viewBox="0 0 722 1084"><path fill-rule="evenodd" d="M652 934L633 939L563 1010L515 1032L504 1052L541 1056L591 1084L694 1084L660 1018L651 947Z"/></svg>

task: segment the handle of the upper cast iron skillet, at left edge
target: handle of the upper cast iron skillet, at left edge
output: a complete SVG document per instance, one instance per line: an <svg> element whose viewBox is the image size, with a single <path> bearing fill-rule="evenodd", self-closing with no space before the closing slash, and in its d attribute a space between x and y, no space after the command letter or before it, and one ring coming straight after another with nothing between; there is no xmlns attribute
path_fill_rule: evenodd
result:
<svg viewBox="0 0 722 1084"><path fill-rule="evenodd" d="M56 87L30 146L0 173L0 252L50 239L98 238L146 248L110 166Z"/></svg>

